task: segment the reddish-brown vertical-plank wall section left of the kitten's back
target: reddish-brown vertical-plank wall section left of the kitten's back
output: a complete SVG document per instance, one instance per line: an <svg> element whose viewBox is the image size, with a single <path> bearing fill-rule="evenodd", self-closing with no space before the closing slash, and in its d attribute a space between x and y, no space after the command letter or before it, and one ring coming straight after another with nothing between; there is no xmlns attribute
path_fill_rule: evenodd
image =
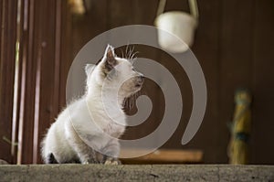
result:
<svg viewBox="0 0 274 182"><path fill-rule="evenodd" d="M62 0L0 1L0 158L11 164L41 162L41 139L65 105L67 12Z"/></svg>

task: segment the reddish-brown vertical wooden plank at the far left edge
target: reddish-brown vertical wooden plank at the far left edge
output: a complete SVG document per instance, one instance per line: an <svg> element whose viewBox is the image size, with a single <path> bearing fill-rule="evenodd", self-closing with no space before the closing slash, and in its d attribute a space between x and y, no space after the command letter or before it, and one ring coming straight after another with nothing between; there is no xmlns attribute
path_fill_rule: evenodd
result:
<svg viewBox="0 0 274 182"><path fill-rule="evenodd" d="M17 1L1 3L1 55L0 55L0 158L12 162L12 115L16 60ZM9 141L9 142L8 142Z"/></svg>

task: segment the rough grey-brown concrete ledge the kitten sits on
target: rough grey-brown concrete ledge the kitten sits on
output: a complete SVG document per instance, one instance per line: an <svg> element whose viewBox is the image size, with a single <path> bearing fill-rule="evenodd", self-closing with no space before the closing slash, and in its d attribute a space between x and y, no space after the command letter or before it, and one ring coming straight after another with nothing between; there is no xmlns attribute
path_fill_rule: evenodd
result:
<svg viewBox="0 0 274 182"><path fill-rule="evenodd" d="M274 166L0 166L0 181L274 181Z"/></svg>

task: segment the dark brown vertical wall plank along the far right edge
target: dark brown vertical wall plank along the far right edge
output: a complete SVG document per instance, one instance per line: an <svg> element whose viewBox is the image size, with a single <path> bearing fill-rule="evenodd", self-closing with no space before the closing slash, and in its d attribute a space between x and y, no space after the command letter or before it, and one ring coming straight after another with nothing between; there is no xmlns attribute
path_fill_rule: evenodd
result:
<svg viewBox="0 0 274 182"><path fill-rule="evenodd" d="M274 2L256 0L254 16L254 82L252 104L251 163L273 164L274 102Z"/></svg>

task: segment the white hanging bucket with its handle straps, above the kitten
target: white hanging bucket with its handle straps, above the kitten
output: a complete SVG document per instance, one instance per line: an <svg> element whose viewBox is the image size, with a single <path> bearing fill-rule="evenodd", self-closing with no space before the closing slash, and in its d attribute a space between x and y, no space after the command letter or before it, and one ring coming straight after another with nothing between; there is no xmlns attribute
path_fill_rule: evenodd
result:
<svg viewBox="0 0 274 182"><path fill-rule="evenodd" d="M158 30L158 42L163 49L178 53L184 52L193 45L195 28L198 25L198 8L196 0L188 2L191 14L183 11L163 13L166 0L160 1L154 24L164 30Z"/></svg>

